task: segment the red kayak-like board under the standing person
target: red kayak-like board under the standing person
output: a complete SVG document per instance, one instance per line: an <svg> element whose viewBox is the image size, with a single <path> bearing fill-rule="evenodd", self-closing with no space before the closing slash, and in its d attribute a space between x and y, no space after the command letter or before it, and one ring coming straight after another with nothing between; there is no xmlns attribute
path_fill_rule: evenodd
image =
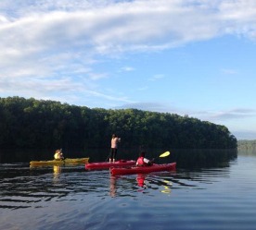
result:
<svg viewBox="0 0 256 230"><path fill-rule="evenodd" d="M115 163L101 162L101 163L85 163L85 169L109 169L110 167L126 167L135 165L135 161L120 160Z"/></svg>

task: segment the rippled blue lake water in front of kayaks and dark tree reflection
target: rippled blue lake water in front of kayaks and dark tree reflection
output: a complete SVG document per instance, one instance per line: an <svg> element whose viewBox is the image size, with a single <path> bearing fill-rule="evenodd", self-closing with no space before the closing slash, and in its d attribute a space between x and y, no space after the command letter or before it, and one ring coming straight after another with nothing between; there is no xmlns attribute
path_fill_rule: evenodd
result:
<svg viewBox="0 0 256 230"><path fill-rule="evenodd" d="M2 163L0 229L255 229L255 168L256 152L147 176Z"/></svg>

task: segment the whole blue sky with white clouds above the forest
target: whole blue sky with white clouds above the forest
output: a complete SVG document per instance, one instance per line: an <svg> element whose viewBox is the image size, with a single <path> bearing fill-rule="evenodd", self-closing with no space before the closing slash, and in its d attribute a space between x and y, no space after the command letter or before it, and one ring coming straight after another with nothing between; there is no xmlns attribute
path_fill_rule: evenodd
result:
<svg viewBox="0 0 256 230"><path fill-rule="evenodd" d="M0 97L188 115L256 139L255 0L1 0Z"/></svg>

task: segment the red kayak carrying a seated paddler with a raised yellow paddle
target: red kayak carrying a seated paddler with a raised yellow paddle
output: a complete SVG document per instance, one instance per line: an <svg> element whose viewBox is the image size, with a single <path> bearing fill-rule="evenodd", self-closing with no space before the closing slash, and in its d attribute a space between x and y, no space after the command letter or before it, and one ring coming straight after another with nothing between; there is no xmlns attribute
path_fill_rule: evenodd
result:
<svg viewBox="0 0 256 230"><path fill-rule="evenodd" d="M157 164L153 163L148 166L135 166L129 168L110 168L110 174L112 176L116 175L131 175L131 174L148 174L152 172L161 171L174 171L176 170L176 163L164 163Z"/></svg>

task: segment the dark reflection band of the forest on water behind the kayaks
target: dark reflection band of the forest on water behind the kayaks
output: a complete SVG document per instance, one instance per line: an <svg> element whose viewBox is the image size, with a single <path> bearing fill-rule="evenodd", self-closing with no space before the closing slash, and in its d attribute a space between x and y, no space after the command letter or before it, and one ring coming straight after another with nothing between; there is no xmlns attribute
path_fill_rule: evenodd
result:
<svg viewBox="0 0 256 230"><path fill-rule="evenodd" d="M158 158L160 153L170 151L168 157ZM65 151L65 157L79 158L89 157L90 162L105 162L109 155L109 149ZM124 160L137 159L138 151L120 150L119 157ZM49 150L0 150L0 163L29 163L31 161L51 160L53 151ZM237 158L236 150L148 150L147 158L156 158L158 163L176 162L181 167L219 166L227 163L229 159Z"/></svg>

